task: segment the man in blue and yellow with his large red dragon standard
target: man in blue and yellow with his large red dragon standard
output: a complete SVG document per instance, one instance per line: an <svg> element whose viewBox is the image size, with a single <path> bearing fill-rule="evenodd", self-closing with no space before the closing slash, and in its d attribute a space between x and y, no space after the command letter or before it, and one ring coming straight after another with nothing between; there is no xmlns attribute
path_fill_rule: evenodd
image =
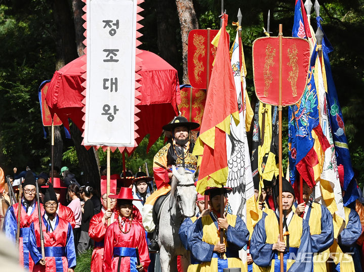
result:
<svg viewBox="0 0 364 272"><path fill-rule="evenodd" d="M309 42L302 38L283 37L281 24L278 37L262 37L253 43L253 71L257 97L262 103L278 106L279 184L275 196L278 197L279 211L275 211L276 214L263 214L251 239L253 261L259 266L268 266L271 271L302 269L308 272L312 269L312 259L305 261L302 254L296 254L311 252L309 227L307 222L293 214L295 193L291 184L282 177L282 107L294 105L301 99L307 82L309 53ZM278 65L274 65L275 63ZM295 253L296 256L291 253Z"/></svg>

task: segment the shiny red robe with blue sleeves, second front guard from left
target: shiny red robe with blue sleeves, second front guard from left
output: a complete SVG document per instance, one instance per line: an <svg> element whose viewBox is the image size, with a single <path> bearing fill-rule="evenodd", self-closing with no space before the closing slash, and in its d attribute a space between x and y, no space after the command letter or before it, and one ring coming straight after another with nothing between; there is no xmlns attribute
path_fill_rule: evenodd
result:
<svg viewBox="0 0 364 272"><path fill-rule="evenodd" d="M35 264L33 272L67 272L68 268L76 266L76 251L74 249L73 232L69 222L57 216L54 232L47 231L46 219L42 216L42 230L46 265L39 264L41 254L41 236L39 224L32 223L29 231L29 250Z"/></svg>

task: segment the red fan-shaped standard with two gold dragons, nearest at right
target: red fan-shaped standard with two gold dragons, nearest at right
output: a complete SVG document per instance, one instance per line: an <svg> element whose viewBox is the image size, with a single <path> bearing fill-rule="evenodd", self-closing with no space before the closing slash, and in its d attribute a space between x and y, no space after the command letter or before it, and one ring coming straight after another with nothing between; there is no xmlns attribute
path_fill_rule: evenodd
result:
<svg viewBox="0 0 364 272"><path fill-rule="evenodd" d="M282 38L282 106L301 100L307 83L309 61L310 44L307 40ZM253 42L253 72L258 99L278 106L278 37L262 37Z"/></svg>

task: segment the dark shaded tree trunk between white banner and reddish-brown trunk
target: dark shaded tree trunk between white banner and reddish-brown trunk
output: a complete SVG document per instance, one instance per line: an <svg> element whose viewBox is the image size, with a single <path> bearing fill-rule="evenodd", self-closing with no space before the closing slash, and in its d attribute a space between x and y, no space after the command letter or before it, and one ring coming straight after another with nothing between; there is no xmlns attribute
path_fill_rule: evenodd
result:
<svg viewBox="0 0 364 272"><path fill-rule="evenodd" d="M156 8L158 11L157 45L160 57L178 69L179 58L177 58L177 40L174 27L176 23L178 24L176 3L171 0L157 0Z"/></svg>

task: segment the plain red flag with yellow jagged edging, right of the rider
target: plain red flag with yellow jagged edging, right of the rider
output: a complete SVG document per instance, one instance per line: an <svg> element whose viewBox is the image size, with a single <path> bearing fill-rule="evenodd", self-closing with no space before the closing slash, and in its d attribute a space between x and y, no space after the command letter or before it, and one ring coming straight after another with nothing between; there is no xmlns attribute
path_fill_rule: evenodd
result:
<svg viewBox="0 0 364 272"><path fill-rule="evenodd" d="M221 187L228 175L226 133L230 133L231 115L239 122L235 82L231 70L229 43L226 40L227 15L222 16L221 35L215 57L215 65L207 92L205 112L199 137L193 149L198 158L199 174L197 192L205 193L206 187Z"/></svg>

